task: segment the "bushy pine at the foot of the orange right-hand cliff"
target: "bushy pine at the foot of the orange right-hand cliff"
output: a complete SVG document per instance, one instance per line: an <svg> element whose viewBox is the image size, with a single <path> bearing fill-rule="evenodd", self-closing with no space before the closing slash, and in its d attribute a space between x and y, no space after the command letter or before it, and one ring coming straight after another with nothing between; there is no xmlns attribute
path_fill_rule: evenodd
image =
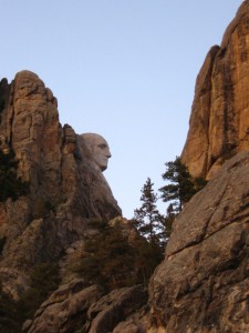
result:
<svg viewBox="0 0 249 333"><path fill-rule="evenodd" d="M159 191L163 201L172 201L175 212L181 211L184 204L207 183L204 179L193 179L187 167L177 157L175 161L166 162L163 179L168 181Z"/></svg>

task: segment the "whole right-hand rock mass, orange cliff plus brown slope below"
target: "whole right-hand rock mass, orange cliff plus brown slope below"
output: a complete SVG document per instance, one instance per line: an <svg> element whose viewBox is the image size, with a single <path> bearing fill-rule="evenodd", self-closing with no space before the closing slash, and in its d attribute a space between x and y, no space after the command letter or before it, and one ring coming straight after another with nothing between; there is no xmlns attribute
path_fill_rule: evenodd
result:
<svg viewBox="0 0 249 333"><path fill-rule="evenodd" d="M181 161L210 179L173 223L149 333L249 332L249 1L197 77Z"/></svg>

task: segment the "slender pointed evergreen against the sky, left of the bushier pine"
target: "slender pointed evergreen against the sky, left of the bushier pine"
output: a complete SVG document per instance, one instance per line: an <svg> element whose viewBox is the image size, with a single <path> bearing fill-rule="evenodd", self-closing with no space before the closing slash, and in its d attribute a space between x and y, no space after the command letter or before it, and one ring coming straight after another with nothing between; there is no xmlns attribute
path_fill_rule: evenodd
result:
<svg viewBox="0 0 249 333"><path fill-rule="evenodd" d="M134 221L137 230L144 235L149 243L159 243L162 231L164 230L164 216L156 208L158 200L154 193L154 183L147 178L146 183L141 190L142 206L134 211Z"/></svg>

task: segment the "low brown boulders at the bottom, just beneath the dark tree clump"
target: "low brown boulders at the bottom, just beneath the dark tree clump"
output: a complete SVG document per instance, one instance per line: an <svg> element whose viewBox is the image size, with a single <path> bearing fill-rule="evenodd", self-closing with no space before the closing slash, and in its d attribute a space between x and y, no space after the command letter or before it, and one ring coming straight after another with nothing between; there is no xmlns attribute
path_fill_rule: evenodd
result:
<svg viewBox="0 0 249 333"><path fill-rule="evenodd" d="M23 331L124 332L120 331L118 324L146 301L147 294L141 285L113 290L103 296L97 285L85 287L84 282L77 280L55 291L37 311L34 320L24 323Z"/></svg>

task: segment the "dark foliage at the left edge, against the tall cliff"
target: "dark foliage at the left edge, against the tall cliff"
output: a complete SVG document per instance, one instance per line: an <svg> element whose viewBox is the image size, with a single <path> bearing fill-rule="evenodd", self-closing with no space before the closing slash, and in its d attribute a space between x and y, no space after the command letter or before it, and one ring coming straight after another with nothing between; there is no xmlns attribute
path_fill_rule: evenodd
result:
<svg viewBox="0 0 249 333"><path fill-rule="evenodd" d="M9 153L0 150L0 202L8 198L17 200L29 192L29 184L18 176L18 163L12 150Z"/></svg>

